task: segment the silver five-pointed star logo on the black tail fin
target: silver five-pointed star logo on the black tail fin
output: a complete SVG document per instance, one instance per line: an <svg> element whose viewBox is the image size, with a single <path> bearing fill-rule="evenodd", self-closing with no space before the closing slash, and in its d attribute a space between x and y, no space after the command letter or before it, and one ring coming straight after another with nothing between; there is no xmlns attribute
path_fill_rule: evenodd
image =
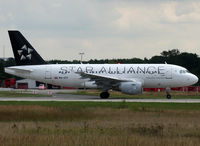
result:
<svg viewBox="0 0 200 146"><path fill-rule="evenodd" d="M26 45L23 45L21 50L18 50L20 60L31 60L33 49L28 48Z"/></svg>

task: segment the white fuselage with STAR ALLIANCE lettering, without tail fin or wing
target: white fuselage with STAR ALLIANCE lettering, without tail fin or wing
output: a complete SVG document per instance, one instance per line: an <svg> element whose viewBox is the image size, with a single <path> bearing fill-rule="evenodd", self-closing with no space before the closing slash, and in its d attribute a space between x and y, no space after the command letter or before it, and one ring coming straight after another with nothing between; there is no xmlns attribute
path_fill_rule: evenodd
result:
<svg viewBox="0 0 200 146"><path fill-rule="evenodd" d="M183 67L170 64L49 64L7 67L5 71L22 78L75 88L98 88L94 81L78 72L139 81L142 87L189 86L198 78Z"/></svg>

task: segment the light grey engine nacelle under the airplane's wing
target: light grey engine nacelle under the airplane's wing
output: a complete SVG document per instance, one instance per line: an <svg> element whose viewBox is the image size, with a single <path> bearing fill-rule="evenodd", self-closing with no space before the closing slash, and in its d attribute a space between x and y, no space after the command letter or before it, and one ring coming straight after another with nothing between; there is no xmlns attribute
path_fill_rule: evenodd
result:
<svg viewBox="0 0 200 146"><path fill-rule="evenodd" d="M142 83L140 82L122 82L119 89L124 94L141 94L142 93Z"/></svg>

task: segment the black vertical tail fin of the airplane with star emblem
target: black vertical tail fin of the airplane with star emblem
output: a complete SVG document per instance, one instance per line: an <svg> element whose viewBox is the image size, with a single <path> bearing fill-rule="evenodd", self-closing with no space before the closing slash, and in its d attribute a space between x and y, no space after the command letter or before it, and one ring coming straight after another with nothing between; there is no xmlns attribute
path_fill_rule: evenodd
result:
<svg viewBox="0 0 200 146"><path fill-rule="evenodd" d="M46 64L24 36L15 30L8 31L16 65Z"/></svg>

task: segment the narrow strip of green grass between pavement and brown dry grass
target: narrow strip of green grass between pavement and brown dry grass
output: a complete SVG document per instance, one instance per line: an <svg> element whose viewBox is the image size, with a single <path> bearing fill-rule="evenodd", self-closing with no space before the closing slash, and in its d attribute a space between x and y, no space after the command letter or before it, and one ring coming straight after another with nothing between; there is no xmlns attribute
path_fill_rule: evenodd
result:
<svg viewBox="0 0 200 146"><path fill-rule="evenodd" d="M191 110L200 111L200 103L140 103L140 102L56 102L56 101L0 101L0 105L7 106L44 106L55 107L67 110L84 110L86 108L128 108L134 111L161 110Z"/></svg>

